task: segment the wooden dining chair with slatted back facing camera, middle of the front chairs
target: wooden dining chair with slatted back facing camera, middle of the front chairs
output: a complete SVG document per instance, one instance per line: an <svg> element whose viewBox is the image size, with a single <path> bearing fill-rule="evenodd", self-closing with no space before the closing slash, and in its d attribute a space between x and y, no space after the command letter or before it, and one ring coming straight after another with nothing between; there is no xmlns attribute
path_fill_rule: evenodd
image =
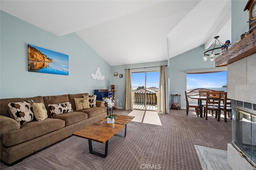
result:
<svg viewBox="0 0 256 170"><path fill-rule="evenodd" d="M206 92L206 105L204 107L204 117L207 120L208 119L208 111L215 111L215 119L218 121L220 117L220 99L222 96L222 92L220 91L212 91L212 92Z"/></svg>

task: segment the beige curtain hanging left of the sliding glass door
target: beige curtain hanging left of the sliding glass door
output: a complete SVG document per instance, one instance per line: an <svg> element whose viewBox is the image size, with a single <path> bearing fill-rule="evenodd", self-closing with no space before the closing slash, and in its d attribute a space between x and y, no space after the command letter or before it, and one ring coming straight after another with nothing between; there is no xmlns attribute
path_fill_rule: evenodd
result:
<svg viewBox="0 0 256 170"><path fill-rule="evenodd" d="M133 110L132 107L132 69L126 68L124 83L123 110Z"/></svg>

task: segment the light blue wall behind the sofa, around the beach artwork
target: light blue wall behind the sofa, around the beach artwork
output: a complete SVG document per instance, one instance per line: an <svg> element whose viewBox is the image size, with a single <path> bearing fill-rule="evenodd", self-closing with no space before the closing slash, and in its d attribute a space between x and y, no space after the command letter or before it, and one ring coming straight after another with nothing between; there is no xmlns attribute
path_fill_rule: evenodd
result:
<svg viewBox="0 0 256 170"><path fill-rule="evenodd" d="M76 94L109 89L111 66L76 33L52 34L1 11L0 98ZM69 56L69 75L28 72L28 44ZM104 80L92 79L100 66Z"/></svg>

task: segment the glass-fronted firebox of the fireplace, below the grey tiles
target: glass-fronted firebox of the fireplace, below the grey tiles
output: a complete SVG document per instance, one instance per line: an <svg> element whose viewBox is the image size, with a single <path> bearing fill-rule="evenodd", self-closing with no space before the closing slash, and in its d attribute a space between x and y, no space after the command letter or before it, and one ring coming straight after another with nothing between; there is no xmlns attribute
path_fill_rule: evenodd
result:
<svg viewBox="0 0 256 170"><path fill-rule="evenodd" d="M256 167L256 104L231 101L232 145Z"/></svg>

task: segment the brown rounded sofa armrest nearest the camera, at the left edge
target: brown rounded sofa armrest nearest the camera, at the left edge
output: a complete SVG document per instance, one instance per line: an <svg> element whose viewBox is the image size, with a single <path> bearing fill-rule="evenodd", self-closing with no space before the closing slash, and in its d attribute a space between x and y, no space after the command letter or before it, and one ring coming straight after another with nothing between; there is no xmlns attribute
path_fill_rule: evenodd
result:
<svg viewBox="0 0 256 170"><path fill-rule="evenodd" d="M10 117L0 115L0 134L20 129L18 122Z"/></svg>

